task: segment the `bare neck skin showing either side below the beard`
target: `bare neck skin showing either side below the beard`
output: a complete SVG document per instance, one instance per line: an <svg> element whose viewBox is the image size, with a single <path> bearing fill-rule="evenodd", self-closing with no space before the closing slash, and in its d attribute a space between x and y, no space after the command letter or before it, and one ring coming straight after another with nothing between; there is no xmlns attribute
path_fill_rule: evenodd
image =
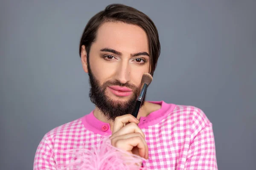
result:
<svg viewBox="0 0 256 170"><path fill-rule="evenodd" d="M153 111L157 111L158 109L160 109L161 106L151 103L151 102L145 102L144 105L140 108L140 111L138 113L137 119L140 120L140 117L145 117L148 116L151 112ZM111 131L113 129L113 120L108 120L106 119L106 117L102 114L102 112L99 110L99 108L96 107L96 109L93 111L94 116L99 119L102 122L106 122L109 123L110 127L111 127Z"/></svg>

